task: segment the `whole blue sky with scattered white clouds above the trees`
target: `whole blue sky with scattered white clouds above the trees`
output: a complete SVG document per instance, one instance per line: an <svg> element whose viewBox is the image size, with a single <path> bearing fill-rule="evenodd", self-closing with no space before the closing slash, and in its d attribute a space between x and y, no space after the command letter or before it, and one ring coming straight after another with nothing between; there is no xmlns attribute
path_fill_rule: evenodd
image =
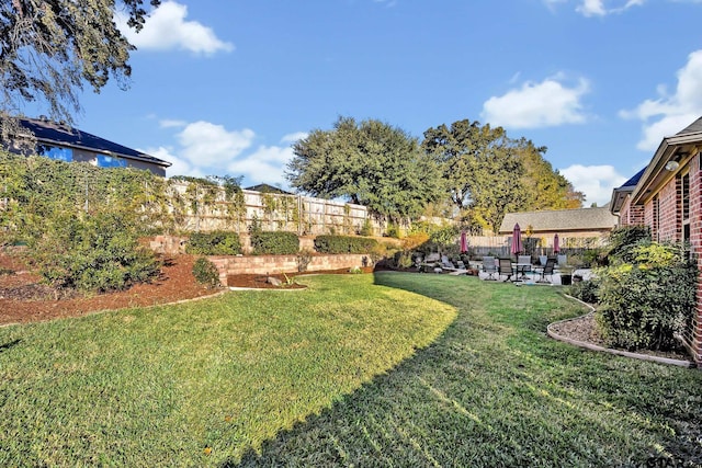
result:
<svg viewBox="0 0 702 468"><path fill-rule="evenodd" d="M702 1L166 0L133 80L76 126L173 163L287 187L291 144L339 115L421 140L464 118L546 146L586 206L702 116Z"/></svg>

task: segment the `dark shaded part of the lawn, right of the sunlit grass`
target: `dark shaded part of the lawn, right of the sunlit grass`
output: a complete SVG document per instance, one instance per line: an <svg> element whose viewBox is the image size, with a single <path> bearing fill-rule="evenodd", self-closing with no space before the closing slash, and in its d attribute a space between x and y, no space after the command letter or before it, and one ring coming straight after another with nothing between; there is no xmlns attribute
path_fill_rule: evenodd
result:
<svg viewBox="0 0 702 468"><path fill-rule="evenodd" d="M376 283L403 287L394 274L377 275ZM461 279L430 288L444 285L461 288L455 300L486 300L482 295L494 289ZM533 331L530 344L514 349L500 338L510 333L500 324L458 310L430 346L320 414L279 432L260 452L250 448L240 461L230 458L220 467L645 466L658 455L645 442L632 441L632 429L652 435L673 456L702 460L689 440L690 427L682 440L680 432L669 437L636 423L650 416L652 407L667 403L671 411L665 424L680 430L702 411L700 402L691 409L689 400L668 399L676 386L665 378L669 369L648 367L642 375L641 363L610 367L608 357L584 356ZM686 387L695 385L690 378ZM627 392L649 385L658 391Z"/></svg>

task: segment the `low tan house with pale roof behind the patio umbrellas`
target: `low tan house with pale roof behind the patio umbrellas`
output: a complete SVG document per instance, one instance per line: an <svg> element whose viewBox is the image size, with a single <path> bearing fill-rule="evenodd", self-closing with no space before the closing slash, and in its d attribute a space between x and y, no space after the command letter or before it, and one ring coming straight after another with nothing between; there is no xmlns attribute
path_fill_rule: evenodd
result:
<svg viewBox="0 0 702 468"><path fill-rule="evenodd" d="M499 233L509 236L516 224L522 233L530 232L531 237L545 239L546 246L553 247L553 237L558 235L561 247L578 243L579 240L607 237L616 226L616 216L609 207L555 209L528 213L508 213L502 219ZM575 246L574 246L575 247ZM580 246L577 246L580 247Z"/></svg>

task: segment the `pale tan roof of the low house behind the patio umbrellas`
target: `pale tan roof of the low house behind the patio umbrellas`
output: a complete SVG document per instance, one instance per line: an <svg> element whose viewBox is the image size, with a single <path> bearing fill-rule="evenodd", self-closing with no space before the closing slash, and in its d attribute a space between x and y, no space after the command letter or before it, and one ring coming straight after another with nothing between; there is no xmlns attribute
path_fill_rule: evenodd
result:
<svg viewBox="0 0 702 468"><path fill-rule="evenodd" d="M519 224L522 231L530 226L533 232L567 232L612 229L616 226L616 222L618 218L610 213L609 206L601 208L508 213L505 215L505 219L502 219L500 233L511 232L516 224Z"/></svg>

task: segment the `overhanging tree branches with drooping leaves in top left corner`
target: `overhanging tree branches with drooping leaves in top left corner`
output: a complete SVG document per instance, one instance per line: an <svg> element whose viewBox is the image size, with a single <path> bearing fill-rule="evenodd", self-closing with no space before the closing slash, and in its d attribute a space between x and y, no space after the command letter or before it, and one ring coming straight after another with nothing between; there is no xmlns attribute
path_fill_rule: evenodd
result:
<svg viewBox="0 0 702 468"><path fill-rule="evenodd" d="M83 83L99 92L114 77L126 87L135 47L117 28L115 13L139 31L145 1L0 0L0 117L38 101L52 117L71 122Z"/></svg>

